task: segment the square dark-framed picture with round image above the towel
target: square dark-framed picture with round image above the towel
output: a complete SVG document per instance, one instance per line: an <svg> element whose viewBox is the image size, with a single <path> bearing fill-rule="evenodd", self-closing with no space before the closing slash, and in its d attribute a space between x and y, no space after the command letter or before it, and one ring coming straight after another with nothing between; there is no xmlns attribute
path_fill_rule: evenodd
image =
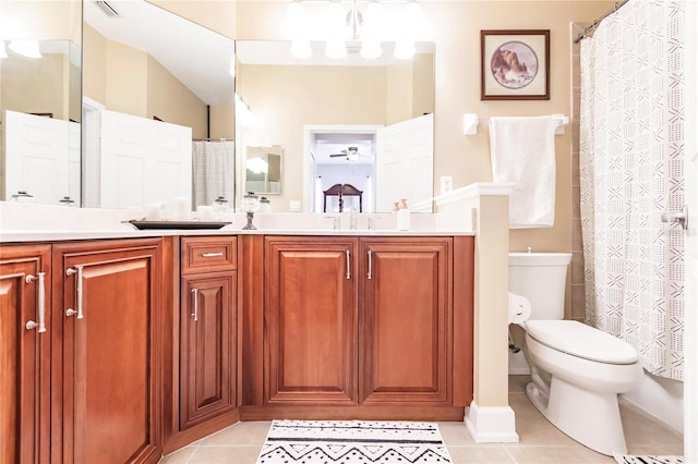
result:
<svg viewBox="0 0 698 464"><path fill-rule="evenodd" d="M481 100L550 100L550 29L480 30Z"/></svg>

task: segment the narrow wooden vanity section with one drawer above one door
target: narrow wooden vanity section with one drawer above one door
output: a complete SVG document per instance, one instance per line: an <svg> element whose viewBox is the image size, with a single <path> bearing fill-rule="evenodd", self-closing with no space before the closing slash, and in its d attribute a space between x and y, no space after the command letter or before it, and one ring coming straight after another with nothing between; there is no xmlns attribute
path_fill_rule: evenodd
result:
<svg viewBox="0 0 698 464"><path fill-rule="evenodd" d="M237 406L237 237L181 239L179 428Z"/></svg>

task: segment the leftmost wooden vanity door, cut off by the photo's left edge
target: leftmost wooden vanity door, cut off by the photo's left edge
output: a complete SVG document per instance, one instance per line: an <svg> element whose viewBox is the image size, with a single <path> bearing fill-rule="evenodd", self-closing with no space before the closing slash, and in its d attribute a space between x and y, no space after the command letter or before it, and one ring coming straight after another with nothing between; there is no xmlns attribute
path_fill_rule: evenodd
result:
<svg viewBox="0 0 698 464"><path fill-rule="evenodd" d="M49 460L49 245L0 246L2 463Z"/></svg>

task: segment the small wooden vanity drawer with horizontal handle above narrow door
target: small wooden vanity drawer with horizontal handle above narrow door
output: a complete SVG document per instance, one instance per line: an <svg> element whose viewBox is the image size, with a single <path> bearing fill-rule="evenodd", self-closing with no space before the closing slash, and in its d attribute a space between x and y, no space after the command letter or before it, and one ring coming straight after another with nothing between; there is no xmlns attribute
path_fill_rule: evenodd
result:
<svg viewBox="0 0 698 464"><path fill-rule="evenodd" d="M182 273L233 270L238 265L234 236L182 237Z"/></svg>

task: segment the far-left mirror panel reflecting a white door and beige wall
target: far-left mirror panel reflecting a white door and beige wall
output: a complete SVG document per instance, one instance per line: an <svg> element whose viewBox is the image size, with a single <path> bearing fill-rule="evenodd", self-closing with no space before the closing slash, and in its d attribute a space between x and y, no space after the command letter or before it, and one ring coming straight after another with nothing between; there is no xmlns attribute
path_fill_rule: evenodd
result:
<svg viewBox="0 0 698 464"><path fill-rule="evenodd" d="M0 2L0 199L81 200L81 16L72 1Z"/></svg>

